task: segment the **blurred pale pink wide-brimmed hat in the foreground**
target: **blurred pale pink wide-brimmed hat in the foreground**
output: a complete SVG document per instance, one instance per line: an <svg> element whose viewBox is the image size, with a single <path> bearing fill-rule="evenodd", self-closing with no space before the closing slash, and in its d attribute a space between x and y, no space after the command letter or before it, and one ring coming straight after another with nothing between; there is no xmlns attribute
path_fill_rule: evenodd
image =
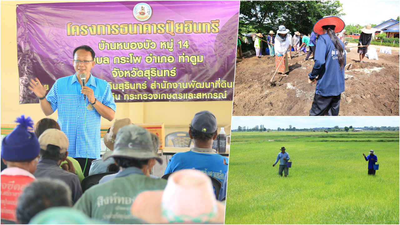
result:
<svg viewBox="0 0 400 225"><path fill-rule="evenodd" d="M168 178L164 190L136 196L132 215L146 223L224 224L225 205L216 200L210 177L193 169Z"/></svg>

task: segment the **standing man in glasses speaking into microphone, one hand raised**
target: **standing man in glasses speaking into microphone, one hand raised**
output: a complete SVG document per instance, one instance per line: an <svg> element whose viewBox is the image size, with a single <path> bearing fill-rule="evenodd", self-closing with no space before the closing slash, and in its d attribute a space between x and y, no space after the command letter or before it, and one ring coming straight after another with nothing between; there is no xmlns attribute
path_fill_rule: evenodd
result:
<svg viewBox="0 0 400 225"><path fill-rule="evenodd" d="M93 49L82 45L72 56L74 75L57 79L47 95L38 78L37 84L31 79L29 89L38 96L46 116L58 109L57 122L70 143L68 156L79 162L87 177L92 161L100 158L100 116L112 121L116 105L109 84L90 73L95 64Z"/></svg>

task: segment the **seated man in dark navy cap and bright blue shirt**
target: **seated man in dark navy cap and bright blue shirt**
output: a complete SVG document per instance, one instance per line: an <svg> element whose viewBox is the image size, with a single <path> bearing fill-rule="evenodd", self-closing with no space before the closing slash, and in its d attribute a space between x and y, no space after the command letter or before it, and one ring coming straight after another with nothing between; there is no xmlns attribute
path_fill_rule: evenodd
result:
<svg viewBox="0 0 400 225"><path fill-rule="evenodd" d="M189 126L189 136L193 140L194 148L173 155L165 174L181 169L197 169L222 182L228 171L228 158L212 149L212 142L217 135L215 116L210 111L196 113Z"/></svg>

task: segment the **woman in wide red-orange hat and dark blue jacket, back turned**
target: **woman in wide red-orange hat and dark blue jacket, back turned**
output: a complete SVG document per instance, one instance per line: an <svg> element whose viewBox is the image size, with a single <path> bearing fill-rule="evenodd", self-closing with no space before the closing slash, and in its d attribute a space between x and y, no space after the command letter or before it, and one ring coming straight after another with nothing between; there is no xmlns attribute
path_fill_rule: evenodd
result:
<svg viewBox="0 0 400 225"><path fill-rule="evenodd" d="M325 16L314 25L314 32L319 37L315 48L314 68L308 74L309 82L316 84L310 116L339 114L340 94L344 92L346 51L335 30L340 32L343 28L343 20L336 16Z"/></svg>

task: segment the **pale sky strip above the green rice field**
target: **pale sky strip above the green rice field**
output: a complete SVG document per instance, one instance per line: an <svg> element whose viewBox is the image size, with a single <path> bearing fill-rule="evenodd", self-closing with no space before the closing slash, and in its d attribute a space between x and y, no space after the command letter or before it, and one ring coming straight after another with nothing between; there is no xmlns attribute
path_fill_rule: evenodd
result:
<svg viewBox="0 0 400 225"><path fill-rule="evenodd" d="M253 128L264 125L266 129L297 129L314 127L398 127L399 117L232 117L232 130L238 126Z"/></svg>

